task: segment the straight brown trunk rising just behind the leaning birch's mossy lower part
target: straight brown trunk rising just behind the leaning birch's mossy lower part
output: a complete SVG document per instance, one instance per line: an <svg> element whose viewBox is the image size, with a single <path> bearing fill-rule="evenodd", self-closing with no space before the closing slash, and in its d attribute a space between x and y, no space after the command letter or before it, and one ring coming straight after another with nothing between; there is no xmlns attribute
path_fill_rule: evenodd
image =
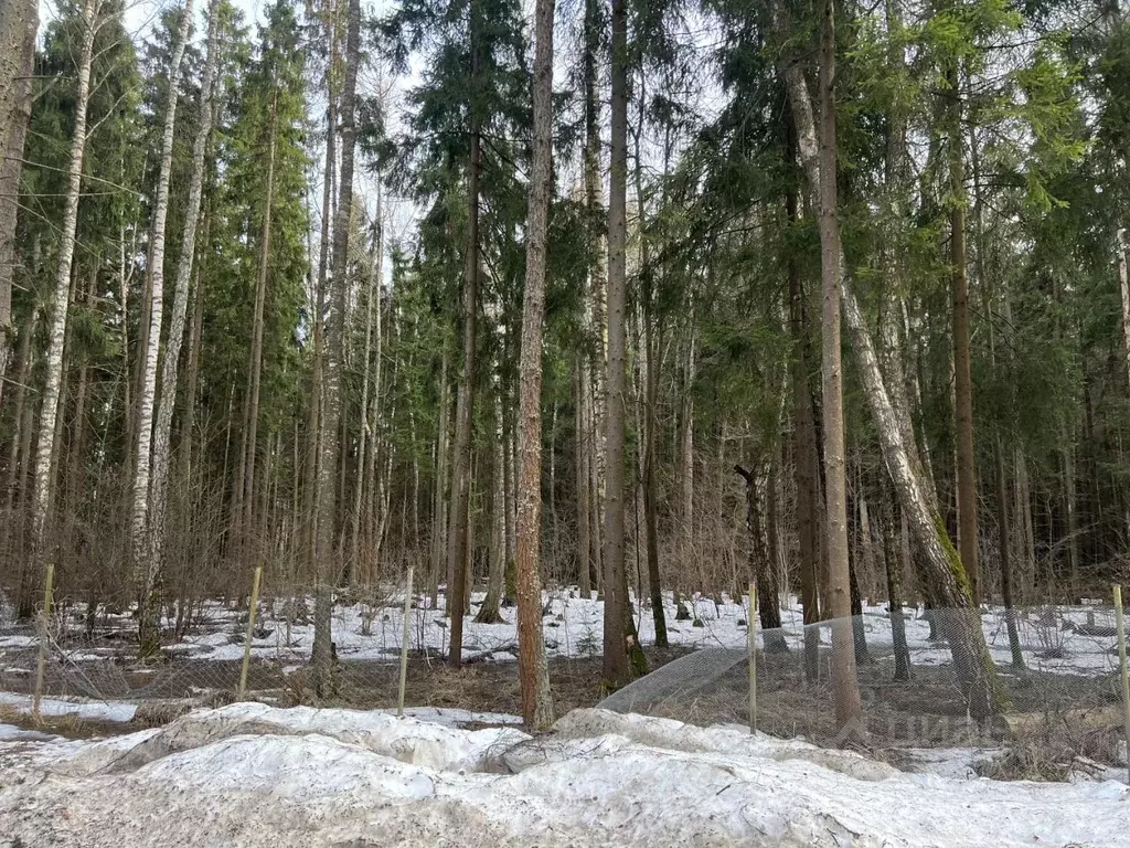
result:
<svg viewBox="0 0 1130 848"><path fill-rule="evenodd" d="M962 154L962 95L957 60L949 84L949 261L954 286L954 414L957 430L957 518L962 564L973 606L980 605L977 482L973 445L973 378L970 372L970 285L965 256L965 166Z"/></svg>

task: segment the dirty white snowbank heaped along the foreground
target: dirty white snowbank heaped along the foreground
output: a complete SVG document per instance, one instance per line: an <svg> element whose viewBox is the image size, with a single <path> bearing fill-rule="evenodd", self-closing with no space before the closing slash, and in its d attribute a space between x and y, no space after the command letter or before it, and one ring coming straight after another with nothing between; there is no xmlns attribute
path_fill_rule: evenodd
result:
<svg viewBox="0 0 1130 848"><path fill-rule="evenodd" d="M599 710L536 738L250 703L104 742L0 733L5 846L1113 848L1130 845L1128 802L1114 781L904 773Z"/></svg>

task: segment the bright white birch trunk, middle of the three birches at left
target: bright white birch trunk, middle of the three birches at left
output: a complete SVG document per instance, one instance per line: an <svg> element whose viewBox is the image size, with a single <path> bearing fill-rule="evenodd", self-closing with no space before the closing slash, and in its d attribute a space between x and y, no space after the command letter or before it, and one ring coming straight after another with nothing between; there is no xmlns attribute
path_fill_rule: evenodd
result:
<svg viewBox="0 0 1130 848"><path fill-rule="evenodd" d="M154 406L157 399L157 360L160 354L160 327L165 305L165 222L168 217L168 187L173 175L173 137L176 130L176 106L181 94L181 60L192 24L193 0L184 0L181 20L173 42L168 62L168 103L165 107L165 127L160 146L160 173L154 199L153 224L149 233L147 284L149 291L149 321L142 348L141 379L138 389L137 466L133 473L133 510L131 543L133 552L133 588L138 598L138 643L141 656L149 656L159 644L159 600L157 571L149 542L150 475L153 470ZM145 322L142 321L142 325Z"/></svg>

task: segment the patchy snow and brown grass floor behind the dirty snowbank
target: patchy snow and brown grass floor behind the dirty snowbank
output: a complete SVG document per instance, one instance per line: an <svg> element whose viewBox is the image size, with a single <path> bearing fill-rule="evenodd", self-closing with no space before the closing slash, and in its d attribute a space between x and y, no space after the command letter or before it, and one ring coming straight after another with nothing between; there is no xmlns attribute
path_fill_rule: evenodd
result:
<svg viewBox="0 0 1130 848"><path fill-rule="evenodd" d="M481 596L475 600L481 602ZM695 596L686 604L693 618L678 621L675 600L671 596L668 600L670 648L649 644L654 631L646 608L638 618L649 661L653 669L662 669L645 678L651 696L632 698L624 706L620 693L620 704L614 707L612 701L603 701L602 603L581 599L572 589L546 594L549 675L558 716L599 704L699 726L748 725L745 607L725 596L722 603ZM786 626L781 631L790 650L758 651L757 726L781 738L835 746L844 741L844 728L835 722L832 702L829 630L827 625L818 629L819 680L808 682L800 613L790 600L782 607ZM279 707L312 703L304 681L312 628L301 614L287 618L296 608L293 603L276 599L262 607L251 654L249 698ZM521 711L512 652L514 612L503 609L503 622L497 624L468 620L466 663L453 670L443 661L442 639L435 638L445 634L442 611L411 609L406 704L417 716L435 709L473 713L475 718L464 721L472 727L511 721ZM965 715L945 643L930 639L922 611L907 612L910 681L893 680L886 609L866 606L859 620L868 654L859 665L862 729L873 758L902 764L907 762L906 751L962 750L970 752L960 756L972 772L1044 779L1064 779L1080 770L1102 773L1121 760L1114 729L1120 718L1112 611L1096 605L1022 611L1018 625L1027 667L1017 672L1008 665L1002 613L986 608L982 616L985 638L1009 702L1008 719L991 724L971 721ZM337 691L322 706L395 707L401 616L402 596L400 603L391 596L381 606L336 607ZM0 628L0 721L32 730L42 729L46 721L47 729L69 737L120 734L159 726L191 707L227 703L238 686L245 611L219 602L206 604L194 626L181 639L168 641L158 661L148 664L130 658L133 643L128 615L103 612L93 635L85 632L79 611L63 613L59 621L64 624L54 628L45 677L51 700L40 725L28 716L37 661L34 632L27 625ZM282 639L280 634L288 630ZM763 631L758 637L764 642ZM1005 746L1023 752L1002 760L997 754Z"/></svg>

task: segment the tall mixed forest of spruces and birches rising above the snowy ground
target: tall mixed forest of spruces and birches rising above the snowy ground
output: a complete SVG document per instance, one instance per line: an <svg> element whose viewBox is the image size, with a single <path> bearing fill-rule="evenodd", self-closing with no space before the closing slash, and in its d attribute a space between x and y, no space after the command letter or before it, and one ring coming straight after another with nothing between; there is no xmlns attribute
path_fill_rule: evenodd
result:
<svg viewBox="0 0 1130 848"><path fill-rule="evenodd" d="M15 618L52 566L144 659L262 566L321 696L411 566L545 727L544 587L616 689L754 581L837 719L869 599L986 717L981 605L1127 577L1119 0L6 0L0 133Z"/></svg>

